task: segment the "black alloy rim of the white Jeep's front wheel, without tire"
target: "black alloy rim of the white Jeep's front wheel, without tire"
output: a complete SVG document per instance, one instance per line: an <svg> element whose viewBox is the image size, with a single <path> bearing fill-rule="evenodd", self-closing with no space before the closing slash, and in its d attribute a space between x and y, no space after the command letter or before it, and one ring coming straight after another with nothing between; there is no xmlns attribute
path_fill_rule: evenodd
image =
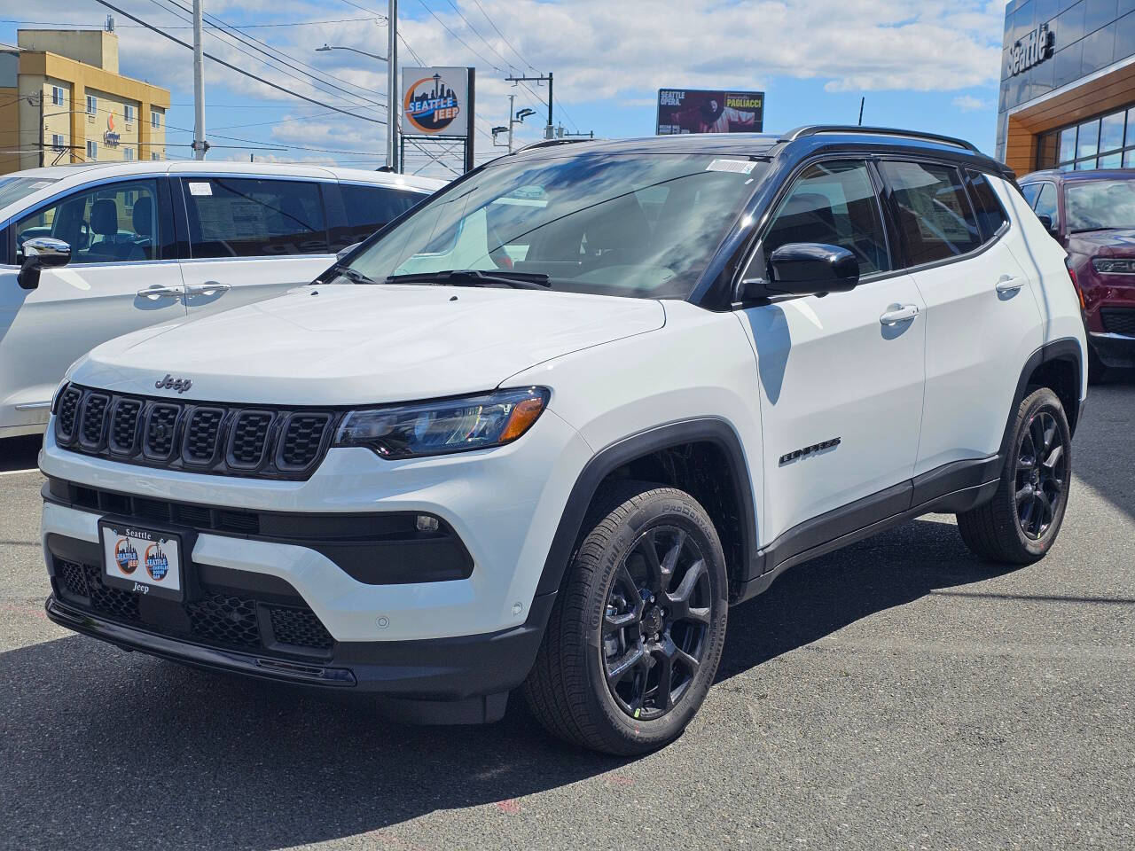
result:
<svg viewBox="0 0 1135 851"><path fill-rule="evenodd" d="M684 697L705 656L712 603L693 538L672 525L639 534L612 578L600 627L607 686L627 715L658 718Z"/></svg>

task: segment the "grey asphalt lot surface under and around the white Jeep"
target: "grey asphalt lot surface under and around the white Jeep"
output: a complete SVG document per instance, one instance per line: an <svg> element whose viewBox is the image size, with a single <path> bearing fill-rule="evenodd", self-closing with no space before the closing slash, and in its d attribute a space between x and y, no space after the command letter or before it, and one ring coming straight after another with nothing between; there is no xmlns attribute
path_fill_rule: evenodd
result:
<svg viewBox="0 0 1135 851"><path fill-rule="evenodd" d="M126 654L45 620L35 441L0 443L0 848L1135 848L1135 380L1093 387L1060 539L933 515L730 613L671 747L613 759Z"/></svg>

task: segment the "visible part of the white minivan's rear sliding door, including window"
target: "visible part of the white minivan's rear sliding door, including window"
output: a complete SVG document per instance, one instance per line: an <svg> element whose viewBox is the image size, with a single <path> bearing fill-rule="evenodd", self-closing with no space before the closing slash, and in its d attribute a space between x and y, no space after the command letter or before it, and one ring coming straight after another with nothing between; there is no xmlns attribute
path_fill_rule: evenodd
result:
<svg viewBox="0 0 1135 851"><path fill-rule="evenodd" d="M230 310L310 283L330 266L317 179L182 175L190 315Z"/></svg>

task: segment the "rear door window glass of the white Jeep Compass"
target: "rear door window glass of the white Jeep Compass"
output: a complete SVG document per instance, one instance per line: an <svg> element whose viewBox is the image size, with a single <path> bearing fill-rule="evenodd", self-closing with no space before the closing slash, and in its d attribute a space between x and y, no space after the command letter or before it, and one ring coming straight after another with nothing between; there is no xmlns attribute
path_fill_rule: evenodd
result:
<svg viewBox="0 0 1135 851"><path fill-rule="evenodd" d="M977 219L956 168L882 162L910 266L948 260L982 243Z"/></svg>

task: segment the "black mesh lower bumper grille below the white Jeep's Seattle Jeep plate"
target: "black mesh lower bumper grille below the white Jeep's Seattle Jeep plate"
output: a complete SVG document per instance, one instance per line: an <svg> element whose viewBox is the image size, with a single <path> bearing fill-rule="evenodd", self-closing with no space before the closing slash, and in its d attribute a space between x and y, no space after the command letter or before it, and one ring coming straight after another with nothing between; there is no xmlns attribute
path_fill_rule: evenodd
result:
<svg viewBox="0 0 1135 851"><path fill-rule="evenodd" d="M142 626L173 638L188 638L201 644L263 654L269 650L301 656L328 656L335 639L306 606L281 605L232 591L205 588L200 599L179 606L185 627L171 629L161 609L150 616L137 595L103 584L101 570L64 558L54 559L56 590L67 605L93 612L110 621ZM167 603L167 606L178 606ZM168 609L167 609L168 612ZM264 617L261 612L267 614ZM268 626L262 624L267 621Z"/></svg>

